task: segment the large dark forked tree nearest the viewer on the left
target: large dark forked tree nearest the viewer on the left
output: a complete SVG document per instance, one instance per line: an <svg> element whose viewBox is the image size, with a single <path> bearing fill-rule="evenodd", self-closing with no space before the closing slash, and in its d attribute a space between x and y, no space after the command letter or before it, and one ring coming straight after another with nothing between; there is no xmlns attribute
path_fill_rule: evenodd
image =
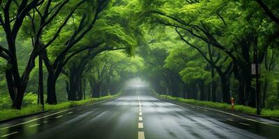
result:
<svg viewBox="0 0 279 139"><path fill-rule="evenodd" d="M42 46L40 37L43 28L53 21L53 19L60 13L61 9L66 6L66 3L68 2L68 0L55 2L22 1L21 3L18 3L17 1L6 1L6 4L4 4L4 8L2 9L3 11L1 11L3 16L0 16L0 24L3 27L3 31L6 33L8 49L1 47L1 57L5 58L8 65L10 65L10 68L6 70L6 81L8 84L10 98L13 101L13 108L21 108L22 99L29 80L29 74L33 70L33 67L35 67L36 57L56 39L56 37L54 37L45 46ZM77 3L77 7L82 3L84 3L84 1ZM3 4L3 1L1 1L0 4ZM15 10L17 12L14 12ZM43 11L43 13L41 13L41 11ZM74 11L75 10L73 10L68 17L73 15ZM36 15L39 15L38 24L35 23ZM33 48L25 70L20 76L17 65L16 42L18 33L20 33L20 31L24 31L24 22L30 21L27 18L31 18L31 24L33 25ZM65 24L67 21L68 19L64 21ZM60 26L60 28L63 28L64 25Z"/></svg>

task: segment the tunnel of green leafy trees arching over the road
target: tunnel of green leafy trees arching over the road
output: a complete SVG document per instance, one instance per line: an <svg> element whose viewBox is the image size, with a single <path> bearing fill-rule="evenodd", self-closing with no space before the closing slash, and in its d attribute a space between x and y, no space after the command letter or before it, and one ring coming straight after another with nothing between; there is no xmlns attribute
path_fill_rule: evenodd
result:
<svg viewBox="0 0 279 139"><path fill-rule="evenodd" d="M159 95L279 108L278 0L0 6L1 109L114 95L137 76Z"/></svg>

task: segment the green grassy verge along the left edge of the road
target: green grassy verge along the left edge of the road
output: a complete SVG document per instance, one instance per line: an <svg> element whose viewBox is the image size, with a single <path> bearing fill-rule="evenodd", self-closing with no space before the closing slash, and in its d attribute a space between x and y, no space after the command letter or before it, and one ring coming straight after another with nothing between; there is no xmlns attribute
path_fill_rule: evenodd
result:
<svg viewBox="0 0 279 139"><path fill-rule="evenodd" d="M54 111L59 110L61 108L71 108L73 106L80 106L83 104L89 104L94 103L97 101L102 101L105 99L111 99L115 97L119 97L121 95L121 92L119 92L116 95L106 96L106 97L100 97L100 98L93 98L86 99L86 100L80 100L80 101L67 101L56 105L49 105L45 104L45 111ZM22 108L21 110L15 110L15 109L5 109L0 111L0 121L8 120L14 117L21 117L24 115L31 115L33 113L39 113L42 112L42 106L40 105L32 105Z"/></svg>

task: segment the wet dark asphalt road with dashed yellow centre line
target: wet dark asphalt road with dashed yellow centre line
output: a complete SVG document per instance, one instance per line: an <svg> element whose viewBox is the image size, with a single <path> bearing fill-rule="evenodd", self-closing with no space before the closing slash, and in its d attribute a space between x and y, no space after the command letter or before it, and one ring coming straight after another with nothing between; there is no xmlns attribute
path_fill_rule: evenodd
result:
<svg viewBox="0 0 279 139"><path fill-rule="evenodd" d="M129 90L99 104L0 124L1 138L278 138L277 122L169 103L147 90Z"/></svg>

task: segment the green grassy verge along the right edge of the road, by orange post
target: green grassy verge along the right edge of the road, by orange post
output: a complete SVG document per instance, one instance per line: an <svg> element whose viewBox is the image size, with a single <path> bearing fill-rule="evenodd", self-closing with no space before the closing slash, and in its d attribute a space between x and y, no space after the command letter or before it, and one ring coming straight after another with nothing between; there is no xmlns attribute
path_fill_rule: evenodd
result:
<svg viewBox="0 0 279 139"><path fill-rule="evenodd" d="M212 101L199 101L199 100L194 100L194 99L183 99L180 97L171 97L171 96L166 96L166 95L156 95L157 97L161 98L167 98L171 99L174 101L180 101L182 103L186 104L193 104L197 106L206 106L206 107L211 107L211 108L222 108L226 110L231 110L232 106L230 104L224 104L224 103L218 103L218 102L212 102ZM243 106L243 105L234 105L234 110L239 111L241 113L250 113L250 114L256 114L257 109L256 108L251 108L249 106ZM263 117L277 117L279 118L279 110L269 110L269 109L262 109L262 115Z"/></svg>

